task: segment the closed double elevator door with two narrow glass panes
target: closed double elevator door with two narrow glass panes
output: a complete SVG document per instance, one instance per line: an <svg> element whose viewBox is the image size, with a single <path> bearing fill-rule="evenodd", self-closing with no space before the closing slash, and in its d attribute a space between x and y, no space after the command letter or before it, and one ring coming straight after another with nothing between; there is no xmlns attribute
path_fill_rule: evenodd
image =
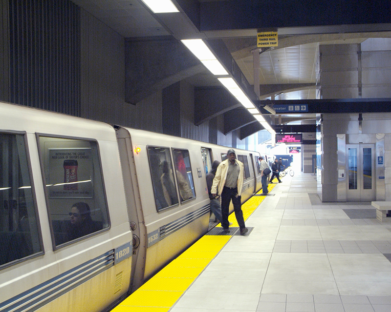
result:
<svg viewBox="0 0 391 312"><path fill-rule="evenodd" d="M348 201L375 200L375 145L347 144Z"/></svg>

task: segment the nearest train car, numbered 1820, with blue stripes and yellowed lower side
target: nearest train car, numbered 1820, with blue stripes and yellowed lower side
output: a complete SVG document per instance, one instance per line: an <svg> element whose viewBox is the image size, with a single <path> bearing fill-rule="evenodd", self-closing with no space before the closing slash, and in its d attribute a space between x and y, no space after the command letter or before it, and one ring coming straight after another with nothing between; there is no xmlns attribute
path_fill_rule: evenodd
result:
<svg viewBox="0 0 391 312"><path fill-rule="evenodd" d="M0 311L102 311L127 294L131 267L114 129L5 103L0 111ZM65 171L74 175L66 186ZM76 202L99 227L69 240L62 225Z"/></svg>

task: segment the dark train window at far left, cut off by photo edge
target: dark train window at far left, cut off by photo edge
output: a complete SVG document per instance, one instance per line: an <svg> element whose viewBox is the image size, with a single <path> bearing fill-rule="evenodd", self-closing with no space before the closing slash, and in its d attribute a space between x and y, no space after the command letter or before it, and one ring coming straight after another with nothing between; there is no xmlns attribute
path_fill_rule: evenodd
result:
<svg viewBox="0 0 391 312"><path fill-rule="evenodd" d="M0 265L42 252L23 135L0 134Z"/></svg>

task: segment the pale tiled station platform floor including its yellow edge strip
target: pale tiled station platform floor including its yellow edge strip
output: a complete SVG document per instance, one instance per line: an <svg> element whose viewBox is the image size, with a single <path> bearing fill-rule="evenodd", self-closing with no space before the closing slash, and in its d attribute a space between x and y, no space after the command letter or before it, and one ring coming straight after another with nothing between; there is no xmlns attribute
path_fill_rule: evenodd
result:
<svg viewBox="0 0 391 312"><path fill-rule="evenodd" d="M370 202L322 203L313 174L269 184L114 312L390 312L391 222Z"/></svg>

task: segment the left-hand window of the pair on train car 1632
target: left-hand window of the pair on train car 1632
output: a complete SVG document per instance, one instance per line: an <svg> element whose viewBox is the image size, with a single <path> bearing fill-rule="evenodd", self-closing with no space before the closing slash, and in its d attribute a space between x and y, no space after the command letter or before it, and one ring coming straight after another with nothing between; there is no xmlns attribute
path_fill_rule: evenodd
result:
<svg viewBox="0 0 391 312"><path fill-rule="evenodd" d="M178 204L170 149L148 146L148 159L157 211Z"/></svg>

